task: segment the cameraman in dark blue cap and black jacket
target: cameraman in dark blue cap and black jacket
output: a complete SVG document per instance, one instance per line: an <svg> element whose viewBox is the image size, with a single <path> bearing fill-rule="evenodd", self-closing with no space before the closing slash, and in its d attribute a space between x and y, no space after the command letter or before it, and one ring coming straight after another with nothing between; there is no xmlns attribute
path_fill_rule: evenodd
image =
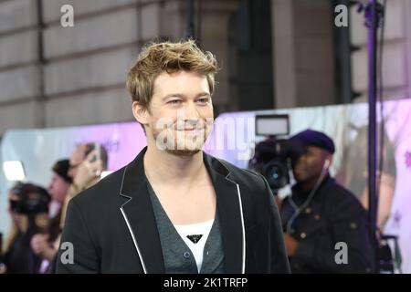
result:
<svg viewBox="0 0 411 292"><path fill-rule="evenodd" d="M293 164L297 183L281 205L293 273L365 273L370 265L366 214L353 193L329 174L332 139L304 130L290 138L305 152Z"/></svg>

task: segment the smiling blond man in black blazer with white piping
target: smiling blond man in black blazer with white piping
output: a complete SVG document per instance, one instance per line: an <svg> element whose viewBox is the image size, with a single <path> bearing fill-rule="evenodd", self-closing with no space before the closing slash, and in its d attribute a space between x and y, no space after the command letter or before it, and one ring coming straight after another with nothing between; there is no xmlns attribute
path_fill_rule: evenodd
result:
<svg viewBox="0 0 411 292"><path fill-rule="evenodd" d="M148 145L70 201L59 273L289 272L268 183L201 151L215 74L192 40L142 50L127 86Z"/></svg>

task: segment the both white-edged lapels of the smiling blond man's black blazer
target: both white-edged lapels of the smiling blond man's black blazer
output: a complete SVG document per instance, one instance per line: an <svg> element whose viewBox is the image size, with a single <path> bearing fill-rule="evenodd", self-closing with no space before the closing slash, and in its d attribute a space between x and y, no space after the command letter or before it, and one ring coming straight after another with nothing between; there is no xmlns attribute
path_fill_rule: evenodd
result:
<svg viewBox="0 0 411 292"><path fill-rule="evenodd" d="M121 206L121 213L129 227L144 272L164 273L160 236L144 174L142 158L146 150L144 148L123 172L120 195L129 200ZM230 172L222 162L205 152L203 154L205 167L216 192L226 273L244 273L246 241L239 186L230 180Z"/></svg>

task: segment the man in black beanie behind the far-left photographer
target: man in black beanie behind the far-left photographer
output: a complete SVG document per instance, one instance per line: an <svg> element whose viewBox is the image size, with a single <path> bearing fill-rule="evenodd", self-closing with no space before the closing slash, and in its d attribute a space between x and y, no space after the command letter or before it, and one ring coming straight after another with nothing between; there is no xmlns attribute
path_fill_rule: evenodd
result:
<svg viewBox="0 0 411 292"><path fill-rule="evenodd" d="M35 254L43 259L40 266L40 273L46 273L49 263L58 252L58 245L53 243L60 234L61 207L64 203L68 188L72 183L72 178L68 176L68 160L60 160L52 167L52 176L48 185L48 192L51 194L51 202L48 206L49 222L47 234L34 235L31 240L31 247Z"/></svg>

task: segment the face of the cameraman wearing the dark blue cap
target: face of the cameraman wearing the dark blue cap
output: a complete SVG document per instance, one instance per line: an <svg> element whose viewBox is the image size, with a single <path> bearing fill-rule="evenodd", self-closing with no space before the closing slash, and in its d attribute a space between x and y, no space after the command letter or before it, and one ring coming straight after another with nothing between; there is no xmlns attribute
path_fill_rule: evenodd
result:
<svg viewBox="0 0 411 292"><path fill-rule="evenodd" d="M331 160L332 157L330 152L319 147L307 146L305 150L292 167L294 178L298 183L317 180L321 175L325 160Z"/></svg>

